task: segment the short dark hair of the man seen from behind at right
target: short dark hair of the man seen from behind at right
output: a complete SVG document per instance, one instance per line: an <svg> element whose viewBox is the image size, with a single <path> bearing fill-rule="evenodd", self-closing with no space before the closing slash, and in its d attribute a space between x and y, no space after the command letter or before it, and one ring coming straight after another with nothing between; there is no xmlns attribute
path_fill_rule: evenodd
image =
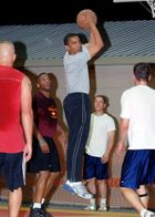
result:
<svg viewBox="0 0 155 217"><path fill-rule="evenodd" d="M148 81L151 76L151 65L145 62L136 63L133 71L137 81Z"/></svg>

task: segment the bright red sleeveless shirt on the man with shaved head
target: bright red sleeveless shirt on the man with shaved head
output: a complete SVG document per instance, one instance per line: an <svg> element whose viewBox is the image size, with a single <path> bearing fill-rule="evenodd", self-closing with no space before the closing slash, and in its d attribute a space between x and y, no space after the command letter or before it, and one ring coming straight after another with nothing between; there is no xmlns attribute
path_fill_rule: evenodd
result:
<svg viewBox="0 0 155 217"><path fill-rule="evenodd" d="M23 74L0 65L0 153L18 153L25 145L20 118Z"/></svg>

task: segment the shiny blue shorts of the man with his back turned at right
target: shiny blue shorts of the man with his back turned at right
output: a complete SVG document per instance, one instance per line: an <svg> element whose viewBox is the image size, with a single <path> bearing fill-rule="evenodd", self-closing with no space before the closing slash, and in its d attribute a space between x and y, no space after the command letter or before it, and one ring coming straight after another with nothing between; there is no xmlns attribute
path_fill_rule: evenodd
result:
<svg viewBox="0 0 155 217"><path fill-rule="evenodd" d="M155 177L155 151L128 149L124 157L121 187L138 189L141 185L152 184Z"/></svg>

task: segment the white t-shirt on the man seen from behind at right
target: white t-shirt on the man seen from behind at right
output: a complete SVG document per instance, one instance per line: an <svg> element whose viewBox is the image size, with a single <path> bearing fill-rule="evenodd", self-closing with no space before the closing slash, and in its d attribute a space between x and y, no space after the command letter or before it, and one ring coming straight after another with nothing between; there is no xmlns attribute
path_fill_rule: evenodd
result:
<svg viewBox="0 0 155 217"><path fill-rule="evenodd" d="M121 117L130 120L128 149L155 149L155 91L146 85L126 90Z"/></svg>

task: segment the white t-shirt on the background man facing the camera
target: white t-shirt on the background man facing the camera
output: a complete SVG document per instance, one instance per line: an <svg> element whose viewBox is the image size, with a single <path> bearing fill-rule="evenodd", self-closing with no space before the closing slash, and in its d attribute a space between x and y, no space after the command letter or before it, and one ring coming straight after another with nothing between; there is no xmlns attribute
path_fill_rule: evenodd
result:
<svg viewBox="0 0 155 217"><path fill-rule="evenodd" d="M108 114L91 115L90 135L85 146L85 152L95 157L102 157L107 148L108 132L115 131L113 117Z"/></svg>

